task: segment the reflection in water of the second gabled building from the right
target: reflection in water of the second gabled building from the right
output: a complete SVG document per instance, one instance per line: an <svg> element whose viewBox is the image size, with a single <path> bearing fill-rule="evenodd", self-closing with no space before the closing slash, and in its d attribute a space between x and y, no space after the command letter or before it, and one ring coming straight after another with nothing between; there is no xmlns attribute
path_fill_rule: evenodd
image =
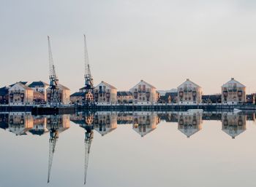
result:
<svg viewBox="0 0 256 187"><path fill-rule="evenodd" d="M202 112L181 112L178 114L178 130L189 138L202 129Z"/></svg>

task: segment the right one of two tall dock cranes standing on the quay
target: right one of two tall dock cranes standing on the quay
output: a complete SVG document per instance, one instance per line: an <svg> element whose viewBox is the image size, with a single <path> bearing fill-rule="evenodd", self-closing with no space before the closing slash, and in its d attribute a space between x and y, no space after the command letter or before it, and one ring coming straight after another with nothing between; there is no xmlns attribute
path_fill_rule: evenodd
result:
<svg viewBox="0 0 256 187"><path fill-rule="evenodd" d="M83 35L84 38L84 63L85 63L85 87L83 90L86 92L84 104L92 104L94 103L94 79L91 76L91 69L89 65L89 57L86 46L86 35Z"/></svg>

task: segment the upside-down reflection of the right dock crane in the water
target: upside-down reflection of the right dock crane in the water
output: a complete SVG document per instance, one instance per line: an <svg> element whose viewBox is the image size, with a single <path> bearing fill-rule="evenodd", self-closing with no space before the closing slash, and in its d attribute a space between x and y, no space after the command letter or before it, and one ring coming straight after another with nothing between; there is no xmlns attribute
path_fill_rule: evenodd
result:
<svg viewBox="0 0 256 187"><path fill-rule="evenodd" d="M85 145L85 162L84 162L84 184L86 184L86 176L87 176L87 168L89 164L89 154L90 154L90 149L91 149L91 142L92 139L94 138L94 116L93 114L87 114L85 118L85 124L80 125L80 127L83 127L86 132L85 132L85 140L84 140L84 145Z"/></svg>

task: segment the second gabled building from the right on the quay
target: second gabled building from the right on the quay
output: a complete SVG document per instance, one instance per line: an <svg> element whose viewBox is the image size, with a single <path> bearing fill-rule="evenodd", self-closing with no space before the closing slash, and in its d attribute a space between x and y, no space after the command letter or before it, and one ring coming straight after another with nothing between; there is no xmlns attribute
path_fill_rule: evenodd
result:
<svg viewBox="0 0 256 187"><path fill-rule="evenodd" d="M179 105L197 105L202 103L202 88L187 79L178 86Z"/></svg>

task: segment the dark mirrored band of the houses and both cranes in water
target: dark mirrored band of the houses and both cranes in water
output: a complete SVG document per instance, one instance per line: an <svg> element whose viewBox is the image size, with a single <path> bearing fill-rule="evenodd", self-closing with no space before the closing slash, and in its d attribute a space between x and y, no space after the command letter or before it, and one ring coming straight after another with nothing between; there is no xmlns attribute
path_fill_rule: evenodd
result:
<svg viewBox="0 0 256 187"><path fill-rule="evenodd" d="M55 116L32 116L26 112L10 112L0 114L0 128L15 135L42 136L49 134L49 157L48 157L48 183L50 182L50 172L54 170L53 155L56 152L57 142L61 132L68 130L70 121L84 130L84 181L89 165L89 154L91 143L94 138L94 130L101 136L109 135L116 130L119 125L131 124L132 130L140 137L145 137L153 132L161 121L167 124L177 125L178 130L190 138L202 130L203 120L219 121L222 131L236 138L246 130L246 121L255 121L254 113L233 113L233 112L211 112L202 113L198 111L173 111L173 112L153 112L153 111L97 111L95 113L85 112L72 115ZM202 133L202 132L201 132ZM147 136L148 137L148 136Z"/></svg>

